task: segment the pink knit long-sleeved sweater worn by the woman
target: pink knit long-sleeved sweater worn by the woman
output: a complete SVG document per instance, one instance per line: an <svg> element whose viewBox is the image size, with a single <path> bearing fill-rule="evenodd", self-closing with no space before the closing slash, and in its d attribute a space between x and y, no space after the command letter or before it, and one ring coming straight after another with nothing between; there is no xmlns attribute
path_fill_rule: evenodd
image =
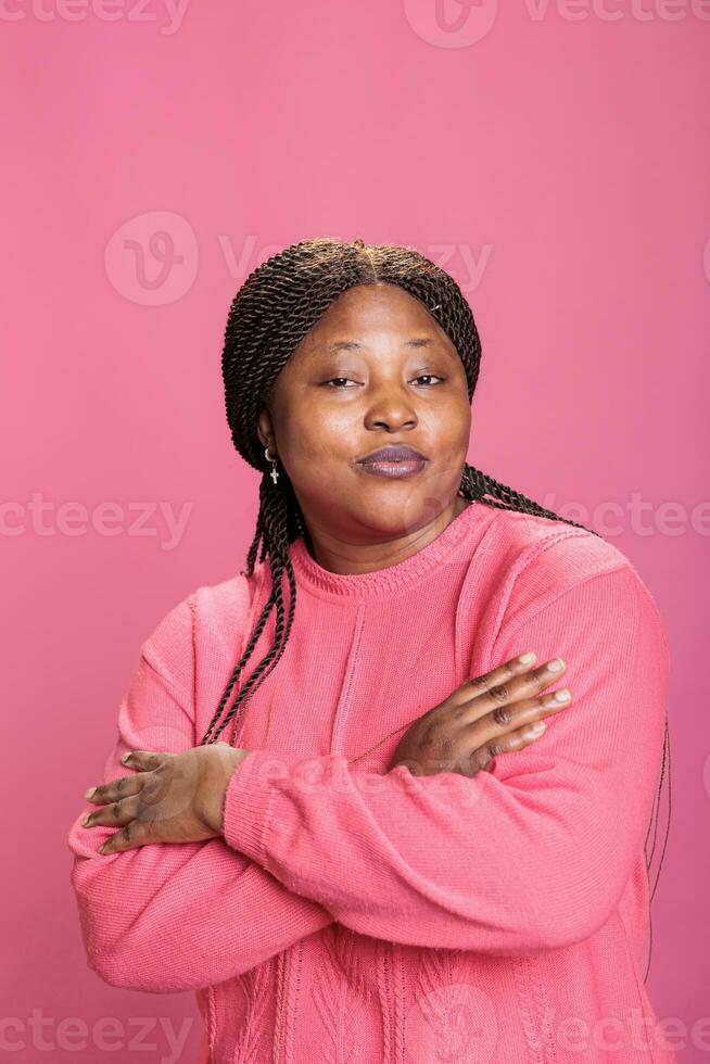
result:
<svg viewBox="0 0 710 1064"><path fill-rule="evenodd" d="M193 989L211 1064L674 1061L642 974L669 654L629 559L480 503L378 572L290 549L294 625L236 736L224 839L102 857L88 803L71 828L89 966ZM200 742L268 586L266 562L161 621L104 781ZM524 650L568 662L542 738L472 778L386 772L411 721Z"/></svg>

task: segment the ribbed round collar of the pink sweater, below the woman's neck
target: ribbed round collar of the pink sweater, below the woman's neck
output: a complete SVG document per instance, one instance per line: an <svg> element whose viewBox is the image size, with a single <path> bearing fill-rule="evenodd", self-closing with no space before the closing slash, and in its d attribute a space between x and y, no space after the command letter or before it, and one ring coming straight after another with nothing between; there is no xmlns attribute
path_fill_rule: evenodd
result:
<svg viewBox="0 0 710 1064"><path fill-rule="evenodd" d="M482 503L470 503L421 550L409 555L404 561L373 572L335 573L324 569L310 556L305 541L300 536L289 547L296 586L301 585L328 598L363 600L391 594L431 572L484 516L491 518L490 507Z"/></svg>

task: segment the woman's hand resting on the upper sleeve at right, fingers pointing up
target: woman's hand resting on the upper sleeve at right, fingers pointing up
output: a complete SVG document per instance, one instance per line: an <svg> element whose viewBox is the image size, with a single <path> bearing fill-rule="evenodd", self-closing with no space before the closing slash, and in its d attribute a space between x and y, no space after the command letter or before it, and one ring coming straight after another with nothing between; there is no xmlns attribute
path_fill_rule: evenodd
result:
<svg viewBox="0 0 710 1064"><path fill-rule="evenodd" d="M523 656L521 656L523 657ZM571 701L569 688L541 695L559 680L561 658L540 668L521 657L467 680L456 691L409 725L394 751L390 770L406 764L413 776L458 772L474 776L507 750L522 750L544 734L544 717L558 713ZM560 668L550 668L555 662ZM560 695L566 697L560 699ZM542 723L538 732L532 731ZM390 771L388 770L388 771Z"/></svg>

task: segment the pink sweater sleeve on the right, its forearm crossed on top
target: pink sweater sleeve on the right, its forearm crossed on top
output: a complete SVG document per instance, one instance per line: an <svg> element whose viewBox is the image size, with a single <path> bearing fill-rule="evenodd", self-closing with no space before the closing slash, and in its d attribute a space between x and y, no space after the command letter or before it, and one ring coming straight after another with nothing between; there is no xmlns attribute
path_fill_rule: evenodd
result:
<svg viewBox="0 0 710 1064"><path fill-rule="evenodd" d="M525 579L545 594L511 600L490 668L525 650L567 661L553 686L572 701L541 738L473 777L252 751L229 782L242 815L227 841L342 924L395 942L511 954L594 934L643 852L668 644L630 563L571 586Z"/></svg>

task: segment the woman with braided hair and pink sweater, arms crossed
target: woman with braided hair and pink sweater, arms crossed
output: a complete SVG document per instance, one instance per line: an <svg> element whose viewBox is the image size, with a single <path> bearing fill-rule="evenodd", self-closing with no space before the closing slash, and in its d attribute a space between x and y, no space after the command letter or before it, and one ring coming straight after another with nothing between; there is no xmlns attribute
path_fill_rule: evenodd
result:
<svg viewBox="0 0 710 1064"><path fill-rule="evenodd" d="M194 989L205 1061L675 1059L639 971L662 624L466 464L479 357L406 248L306 240L232 303L248 568L143 643L69 838L90 966Z"/></svg>

